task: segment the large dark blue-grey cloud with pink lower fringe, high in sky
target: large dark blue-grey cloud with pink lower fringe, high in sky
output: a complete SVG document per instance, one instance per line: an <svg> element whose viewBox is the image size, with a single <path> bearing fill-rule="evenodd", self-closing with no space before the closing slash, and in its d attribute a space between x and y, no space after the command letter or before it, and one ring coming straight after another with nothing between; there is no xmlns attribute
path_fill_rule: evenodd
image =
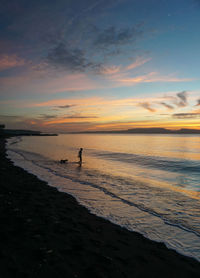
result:
<svg viewBox="0 0 200 278"><path fill-rule="evenodd" d="M113 74L119 68L117 66L106 67L102 62L103 59L99 61L99 57L108 52L107 58L109 59L110 51L112 53L114 51L113 55L115 56L123 54L123 51L121 52L120 49L123 49L124 45L136 40L143 33L139 24L135 27L124 29L116 29L116 27L111 26L104 30L99 30L95 25L93 28L91 26L88 26L88 28L91 29L89 39L85 37L85 31L83 31L82 35L77 35L80 38L76 38L75 43L69 36L67 43L65 39L62 39L56 46L51 48L46 58L47 65L53 66L56 69L60 68L74 72L89 70L94 73ZM118 48L117 51L116 47ZM138 58L126 70L136 68L147 61L149 59Z"/></svg>

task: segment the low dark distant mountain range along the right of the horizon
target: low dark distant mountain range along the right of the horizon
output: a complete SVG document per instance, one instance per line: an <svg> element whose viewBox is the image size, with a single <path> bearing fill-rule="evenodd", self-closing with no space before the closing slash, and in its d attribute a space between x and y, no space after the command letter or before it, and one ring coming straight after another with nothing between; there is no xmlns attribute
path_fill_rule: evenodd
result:
<svg viewBox="0 0 200 278"><path fill-rule="evenodd" d="M127 130L111 130L111 131L84 131L80 133L117 133L117 134L200 134L199 129L182 128L171 130L166 128L132 128Z"/></svg>

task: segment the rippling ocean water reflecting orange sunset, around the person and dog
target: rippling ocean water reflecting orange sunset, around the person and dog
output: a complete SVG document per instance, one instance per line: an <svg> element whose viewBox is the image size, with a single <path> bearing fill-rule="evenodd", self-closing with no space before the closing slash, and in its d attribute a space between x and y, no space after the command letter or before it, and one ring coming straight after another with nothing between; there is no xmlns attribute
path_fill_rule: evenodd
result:
<svg viewBox="0 0 200 278"><path fill-rule="evenodd" d="M7 155L90 212L200 261L200 136L13 137Z"/></svg>

